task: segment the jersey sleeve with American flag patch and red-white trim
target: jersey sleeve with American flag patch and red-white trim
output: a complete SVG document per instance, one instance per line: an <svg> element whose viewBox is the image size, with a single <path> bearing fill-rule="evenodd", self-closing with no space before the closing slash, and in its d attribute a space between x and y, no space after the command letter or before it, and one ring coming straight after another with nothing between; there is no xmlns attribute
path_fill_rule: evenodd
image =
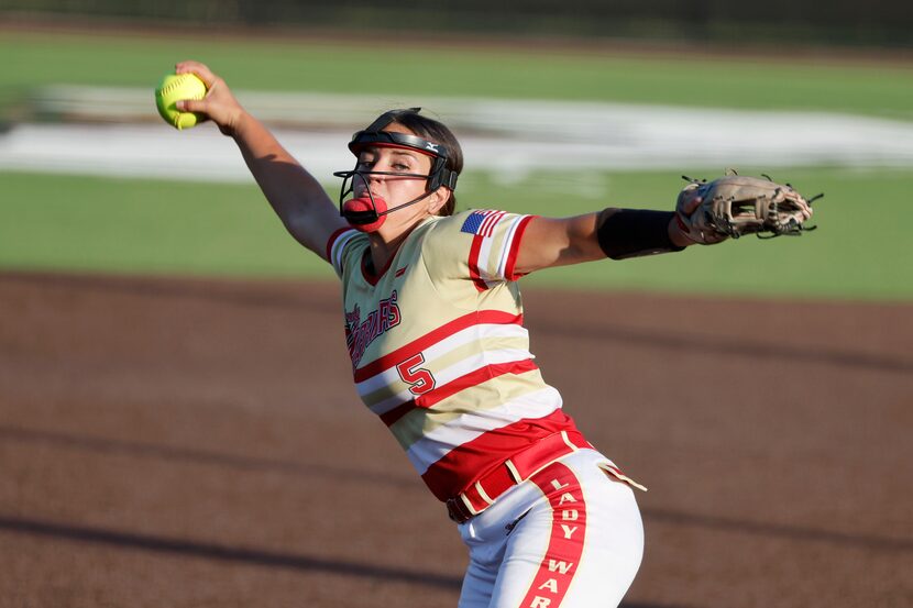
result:
<svg viewBox="0 0 913 608"><path fill-rule="evenodd" d="M439 222L429 234L426 264L432 274L468 278L480 291L517 280L517 253L534 215L495 210L464 211Z"/></svg>

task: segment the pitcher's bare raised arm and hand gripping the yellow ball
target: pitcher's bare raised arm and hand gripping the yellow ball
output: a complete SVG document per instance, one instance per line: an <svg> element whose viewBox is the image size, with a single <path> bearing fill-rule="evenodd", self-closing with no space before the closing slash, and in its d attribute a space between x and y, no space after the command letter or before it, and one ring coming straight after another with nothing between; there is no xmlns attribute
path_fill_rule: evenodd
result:
<svg viewBox="0 0 913 608"><path fill-rule="evenodd" d="M175 71L194 73L208 89L201 100L178 102L178 109L198 112L238 144L248 168L288 232L304 246L326 256L330 234L346 225L327 192L278 143L263 123L234 99L224 80L204 64L182 62Z"/></svg>

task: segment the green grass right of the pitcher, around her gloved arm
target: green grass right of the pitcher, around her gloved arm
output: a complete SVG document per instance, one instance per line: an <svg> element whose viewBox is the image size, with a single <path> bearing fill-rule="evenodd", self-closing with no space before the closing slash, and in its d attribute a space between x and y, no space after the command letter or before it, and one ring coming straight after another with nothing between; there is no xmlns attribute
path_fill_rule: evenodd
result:
<svg viewBox="0 0 913 608"><path fill-rule="evenodd" d="M746 175L761 173L740 167ZM695 176L714 172L686 170ZM803 168L789 178L809 196L825 192L815 202L813 224L818 229L801 236L772 241L744 237L715 246L693 246L685 252L549 269L530 277L530 284L566 287L625 288L681 292L713 292L762 297L839 299L913 298L913 253L901 220L909 207L908 188L913 172L844 168ZM605 206L672 209L683 184L670 172L603 174L592 178L592 191L580 203L565 204L571 179L563 187L549 186L548 176L510 191L509 207L527 212L564 215ZM486 187L487 191L497 191ZM583 192L581 192L583 195Z"/></svg>

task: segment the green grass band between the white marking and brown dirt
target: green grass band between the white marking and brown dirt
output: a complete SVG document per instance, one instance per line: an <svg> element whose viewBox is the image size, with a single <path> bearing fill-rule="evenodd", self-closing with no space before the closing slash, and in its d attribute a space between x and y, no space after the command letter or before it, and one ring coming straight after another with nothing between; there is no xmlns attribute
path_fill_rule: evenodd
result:
<svg viewBox="0 0 913 608"><path fill-rule="evenodd" d="M745 167L750 173L749 167ZM701 170L694 175L704 174ZM780 177L780 176L778 176ZM785 177L785 176L783 176ZM540 286L866 300L913 298L902 221L913 172L802 169L789 176L816 203L817 231L755 237L671 255L556 268ZM0 267L315 277L332 272L299 247L254 186L0 174ZM505 185L465 176L460 207L572 215L602 207L671 209L675 174L540 174Z"/></svg>

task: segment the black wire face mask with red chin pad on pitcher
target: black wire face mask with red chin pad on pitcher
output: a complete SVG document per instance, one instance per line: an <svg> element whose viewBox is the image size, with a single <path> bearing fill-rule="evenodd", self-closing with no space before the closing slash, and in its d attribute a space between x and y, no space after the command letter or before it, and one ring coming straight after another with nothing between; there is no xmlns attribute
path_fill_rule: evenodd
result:
<svg viewBox="0 0 913 608"><path fill-rule="evenodd" d="M389 133L382 131L388 124L396 122L396 119L405 113L418 112L420 108L410 108L408 110L391 110L382 114L377 120L371 123L367 129L359 131L352 136L349 142L349 150L352 154L359 156L366 147L399 147L405 150L414 150L421 154L431 157L431 170L428 175L415 173L399 173L399 172L372 172L363 170L355 164L355 168L351 172L336 172L336 177L342 178L342 187L339 194L339 213L346 221L358 230L363 232L374 232L381 228L386 220L386 215L397 209L403 209L410 204L427 198L435 190L441 186L447 186L453 190L457 187L457 173L447 168L447 159L449 151L447 146L436 144L424 140L417 135L408 133ZM388 175L396 177L414 177L424 178L427 180L425 192L410 201L398 204L393 209L387 208L386 201L371 194L369 187L369 179L373 175ZM345 200L355 189L356 180L361 180L364 185L364 195L359 198Z"/></svg>

